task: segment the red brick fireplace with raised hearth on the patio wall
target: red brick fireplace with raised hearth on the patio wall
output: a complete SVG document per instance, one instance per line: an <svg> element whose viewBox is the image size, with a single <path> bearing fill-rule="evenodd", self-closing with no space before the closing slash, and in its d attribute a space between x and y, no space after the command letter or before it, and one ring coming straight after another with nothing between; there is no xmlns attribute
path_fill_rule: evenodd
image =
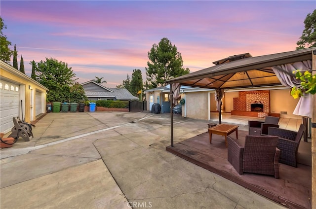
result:
<svg viewBox="0 0 316 209"><path fill-rule="evenodd" d="M232 115L266 117L270 113L270 90L242 91L234 98Z"/></svg>

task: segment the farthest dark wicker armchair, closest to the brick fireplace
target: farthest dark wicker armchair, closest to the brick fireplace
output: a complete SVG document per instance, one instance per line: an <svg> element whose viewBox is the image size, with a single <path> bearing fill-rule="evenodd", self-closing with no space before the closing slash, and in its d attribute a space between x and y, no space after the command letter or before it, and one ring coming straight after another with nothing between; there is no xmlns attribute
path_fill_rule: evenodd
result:
<svg viewBox="0 0 316 209"><path fill-rule="evenodd" d="M268 127L279 127L277 125L279 119L279 117L267 116L265 122L249 120L249 135L261 136L262 134L268 134Z"/></svg>

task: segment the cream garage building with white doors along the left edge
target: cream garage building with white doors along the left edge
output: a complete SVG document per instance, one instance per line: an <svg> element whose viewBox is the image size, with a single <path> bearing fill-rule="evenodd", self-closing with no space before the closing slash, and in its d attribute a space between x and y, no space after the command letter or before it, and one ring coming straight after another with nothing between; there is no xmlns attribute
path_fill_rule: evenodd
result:
<svg viewBox="0 0 316 209"><path fill-rule="evenodd" d="M12 66L0 61L0 132L11 131L13 117L25 122L36 120L46 112L46 91L43 85Z"/></svg>

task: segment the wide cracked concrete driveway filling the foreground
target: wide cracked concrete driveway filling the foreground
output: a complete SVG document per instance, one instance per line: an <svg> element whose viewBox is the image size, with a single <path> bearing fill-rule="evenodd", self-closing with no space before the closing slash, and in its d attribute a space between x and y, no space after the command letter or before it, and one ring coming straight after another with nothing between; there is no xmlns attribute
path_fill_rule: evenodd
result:
<svg viewBox="0 0 316 209"><path fill-rule="evenodd" d="M174 142L207 131L174 115ZM170 115L48 113L0 150L1 209L277 209L282 206L167 151Z"/></svg>

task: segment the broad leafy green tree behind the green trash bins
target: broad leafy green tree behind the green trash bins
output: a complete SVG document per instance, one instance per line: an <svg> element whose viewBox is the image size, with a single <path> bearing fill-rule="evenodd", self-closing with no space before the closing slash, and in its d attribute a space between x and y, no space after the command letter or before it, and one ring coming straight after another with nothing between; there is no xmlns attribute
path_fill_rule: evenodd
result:
<svg viewBox="0 0 316 209"><path fill-rule="evenodd" d="M85 98L83 87L75 82L76 74L68 64L53 58L35 63L36 80L49 89L48 102L81 102Z"/></svg>

